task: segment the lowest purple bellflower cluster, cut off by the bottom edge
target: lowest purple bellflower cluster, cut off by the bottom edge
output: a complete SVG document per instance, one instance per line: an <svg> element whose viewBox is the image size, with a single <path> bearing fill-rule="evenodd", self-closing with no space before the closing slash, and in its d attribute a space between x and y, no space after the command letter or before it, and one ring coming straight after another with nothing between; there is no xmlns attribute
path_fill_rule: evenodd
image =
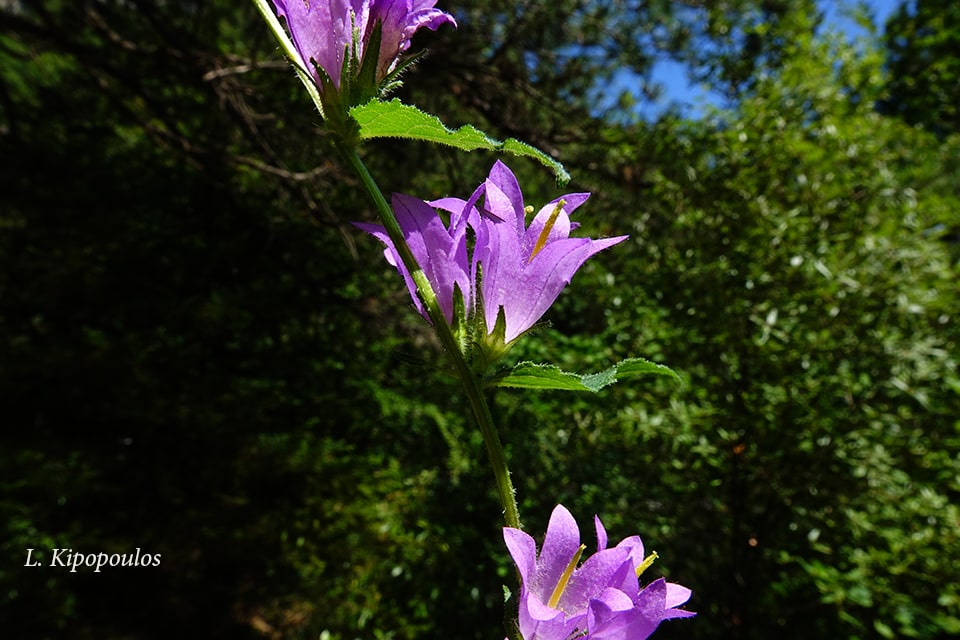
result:
<svg viewBox="0 0 960 640"><path fill-rule="evenodd" d="M597 552L579 567L585 545L563 505L550 516L539 555L532 537L504 528L520 572L519 624L525 640L643 640L662 620L694 615L676 608L690 597L686 587L660 578L640 588L638 575L656 556L644 560L639 536L608 549L600 519L594 517L594 524Z"/></svg>

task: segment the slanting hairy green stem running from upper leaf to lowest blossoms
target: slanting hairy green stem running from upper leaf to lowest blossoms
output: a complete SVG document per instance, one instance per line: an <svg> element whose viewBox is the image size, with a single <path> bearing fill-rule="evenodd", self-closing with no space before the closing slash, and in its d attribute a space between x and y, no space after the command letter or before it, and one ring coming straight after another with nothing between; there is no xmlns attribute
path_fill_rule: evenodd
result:
<svg viewBox="0 0 960 640"><path fill-rule="evenodd" d="M453 367L456 370L457 377L460 378L460 382L463 384L470 408L477 420L477 425L480 427L483 442L487 447L487 455L490 458L490 465L493 467L493 475L497 482L497 492L500 494L500 502L503 504L504 520L508 527L520 529L520 513L517 510L517 498L513 489L513 483L510 481L507 458L503 453L500 436L494 427L493 417L490 415L490 407L487 406L487 402L483 397L480 381L477 379L477 376L474 375L473 371L470 370L470 365L468 365L464 359L463 352L460 351L460 345L457 343L457 339L450 330L447 319L440 309L440 303L437 301L433 287L430 286L430 281L427 280L426 274L423 272L423 269L420 268L416 258L414 258L413 253L410 251L410 247L403 237L403 231L401 231L400 225L394 216L393 209L389 203L387 203L387 199L383 197L380 187L378 187L377 183L373 180L373 176L370 175L370 172L367 170L366 165L363 164L355 148L341 149L341 151L347 157L354 170L356 170L357 175L360 176L360 180L363 182L363 186L366 187L370 196L373 198L373 202L377 207L377 213L380 214L383 226L387 230L387 235L390 236L390 240L400 255L400 259L413 277L420 299L423 301L423 306L427 310L427 315L430 316L431 322L433 322L433 328L440 337L440 342L443 344L447 355L450 356L450 359L453 361Z"/></svg>

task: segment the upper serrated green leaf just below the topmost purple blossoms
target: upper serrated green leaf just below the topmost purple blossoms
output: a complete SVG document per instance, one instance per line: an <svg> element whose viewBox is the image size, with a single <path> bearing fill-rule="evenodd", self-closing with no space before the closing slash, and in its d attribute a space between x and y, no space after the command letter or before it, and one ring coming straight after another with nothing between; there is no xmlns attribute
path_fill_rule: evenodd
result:
<svg viewBox="0 0 960 640"><path fill-rule="evenodd" d="M371 100L350 109L350 115L360 125L361 140L406 138L444 144L463 151L505 151L533 158L549 167L556 174L560 186L570 181L570 174L563 165L536 147L515 138L495 140L469 124L459 129L448 129L436 116L396 99L389 102Z"/></svg>

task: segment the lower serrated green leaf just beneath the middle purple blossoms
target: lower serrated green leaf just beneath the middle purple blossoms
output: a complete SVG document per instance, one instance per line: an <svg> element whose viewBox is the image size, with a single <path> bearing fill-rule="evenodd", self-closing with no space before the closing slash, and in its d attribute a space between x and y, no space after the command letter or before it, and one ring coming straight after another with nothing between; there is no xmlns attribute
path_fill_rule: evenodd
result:
<svg viewBox="0 0 960 640"><path fill-rule="evenodd" d="M627 358L609 369L588 374L563 371L560 367L551 364L521 362L512 369L498 373L488 381L488 384L495 387L592 391L596 393L619 380L648 374L672 376L678 381L680 380L680 376L670 367L643 358Z"/></svg>

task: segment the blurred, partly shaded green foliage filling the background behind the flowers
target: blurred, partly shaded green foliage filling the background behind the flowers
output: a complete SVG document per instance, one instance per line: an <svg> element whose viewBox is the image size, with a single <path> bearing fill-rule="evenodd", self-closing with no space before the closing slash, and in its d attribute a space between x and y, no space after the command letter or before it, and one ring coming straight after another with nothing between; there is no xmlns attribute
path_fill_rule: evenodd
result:
<svg viewBox="0 0 960 640"><path fill-rule="evenodd" d="M922 97L896 88L925 42L846 42L810 3L636 4L450 3L400 94L558 154L583 233L632 236L511 356L684 378L498 392L528 529L563 502L585 538L594 513L640 533L700 612L657 637L953 637L960 139L874 107ZM0 25L4 637L502 637L482 442L252 3ZM668 56L724 108L637 119ZM423 198L494 157L366 156ZM161 567L22 566L137 547Z"/></svg>

